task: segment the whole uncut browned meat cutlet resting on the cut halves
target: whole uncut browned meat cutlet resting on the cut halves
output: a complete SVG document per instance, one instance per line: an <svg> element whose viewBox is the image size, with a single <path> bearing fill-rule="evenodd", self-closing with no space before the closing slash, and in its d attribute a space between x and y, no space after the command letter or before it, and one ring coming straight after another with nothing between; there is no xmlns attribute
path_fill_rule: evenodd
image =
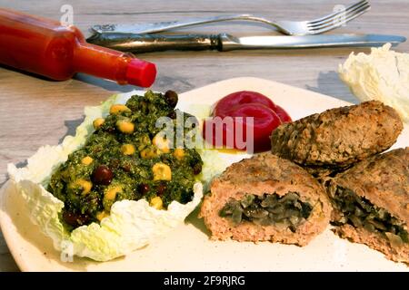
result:
<svg viewBox="0 0 409 290"><path fill-rule="evenodd" d="M362 102L284 123L272 133L272 152L322 177L387 150L402 130L392 107Z"/></svg>

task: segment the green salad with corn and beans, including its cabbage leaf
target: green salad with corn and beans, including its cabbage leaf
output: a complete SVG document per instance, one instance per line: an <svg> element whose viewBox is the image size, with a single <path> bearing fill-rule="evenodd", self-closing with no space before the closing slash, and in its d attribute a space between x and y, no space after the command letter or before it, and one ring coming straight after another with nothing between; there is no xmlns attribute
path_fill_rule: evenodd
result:
<svg viewBox="0 0 409 290"><path fill-rule="evenodd" d="M172 91L114 95L85 107L74 137L40 148L25 168L9 165L30 218L57 250L97 261L124 256L182 224L200 203L224 166L215 150L176 147L161 135L156 121L176 120L177 99Z"/></svg>

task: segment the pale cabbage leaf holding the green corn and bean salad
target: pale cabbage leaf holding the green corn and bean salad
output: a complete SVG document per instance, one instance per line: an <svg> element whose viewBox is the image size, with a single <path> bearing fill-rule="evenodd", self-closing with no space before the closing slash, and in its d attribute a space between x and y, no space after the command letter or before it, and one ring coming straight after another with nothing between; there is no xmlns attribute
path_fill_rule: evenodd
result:
<svg viewBox="0 0 409 290"><path fill-rule="evenodd" d="M46 236L53 239L55 249L66 251L66 246L69 245L69 254L96 261L124 256L145 247L156 237L165 235L183 223L200 203L203 186L201 182L197 182L193 200L185 205L173 201L167 210L157 210L150 207L145 199L121 200L115 202L110 216L100 224L77 227L69 233L61 223L59 217L64 203L45 189L52 173L67 160L71 152L85 144L85 140L94 131L92 123L96 118L104 118L113 103L125 103L138 93L141 92L117 94L100 106L85 107L85 121L76 129L75 137L67 136L57 146L40 148L27 160L25 168L17 169L13 164L8 165L11 182L25 199L31 220L42 228ZM214 150L200 150L199 153L205 161L201 181L207 184L224 167L219 165L217 169L213 169L212 160L217 158Z"/></svg>

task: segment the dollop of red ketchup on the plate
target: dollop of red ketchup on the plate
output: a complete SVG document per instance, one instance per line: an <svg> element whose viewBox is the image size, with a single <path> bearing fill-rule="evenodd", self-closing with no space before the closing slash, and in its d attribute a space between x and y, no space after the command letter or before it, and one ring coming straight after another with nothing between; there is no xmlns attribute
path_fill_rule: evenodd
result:
<svg viewBox="0 0 409 290"><path fill-rule="evenodd" d="M253 121L247 117L252 117ZM216 103L213 118L205 120L203 136L214 146L220 146L222 141L224 147L237 150L250 150L249 141L253 141L251 149L261 152L271 149L272 131L288 121L292 121L290 115L264 94L233 92ZM253 140L247 136L248 129L253 131Z"/></svg>

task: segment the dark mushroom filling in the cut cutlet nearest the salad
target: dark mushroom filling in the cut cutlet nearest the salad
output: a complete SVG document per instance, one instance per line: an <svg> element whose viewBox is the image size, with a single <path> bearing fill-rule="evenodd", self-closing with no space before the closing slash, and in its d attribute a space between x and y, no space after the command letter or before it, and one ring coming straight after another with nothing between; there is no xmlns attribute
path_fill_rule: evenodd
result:
<svg viewBox="0 0 409 290"><path fill-rule="evenodd" d="M300 200L296 192L289 192L283 197L277 194L255 196L247 194L241 200L230 198L219 212L220 217L230 218L237 226L245 221L260 226L288 227L295 232L310 216L313 207Z"/></svg>

